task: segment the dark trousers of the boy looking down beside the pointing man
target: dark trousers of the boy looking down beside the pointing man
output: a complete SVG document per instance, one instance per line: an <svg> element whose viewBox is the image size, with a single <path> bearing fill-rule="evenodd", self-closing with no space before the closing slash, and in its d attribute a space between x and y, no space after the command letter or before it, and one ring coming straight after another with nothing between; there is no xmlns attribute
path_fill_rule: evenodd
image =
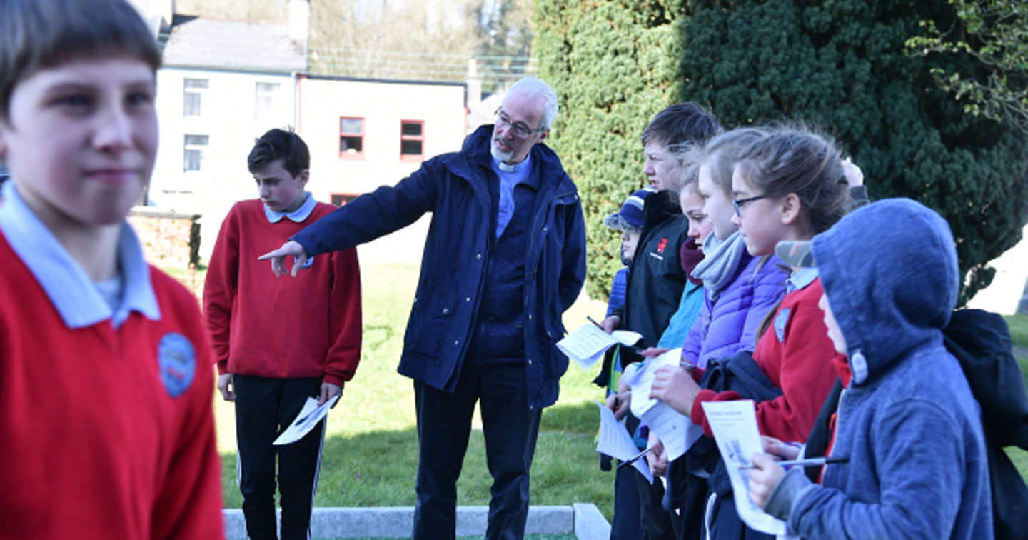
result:
<svg viewBox="0 0 1028 540"><path fill-rule="evenodd" d="M318 489L323 420L302 439L271 442L296 419L308 397L321 392L321 377L269 379L234 375L235 437L243 515L251 540L278 538L274 516L276 458L283 540L306 540Z"/></svg>

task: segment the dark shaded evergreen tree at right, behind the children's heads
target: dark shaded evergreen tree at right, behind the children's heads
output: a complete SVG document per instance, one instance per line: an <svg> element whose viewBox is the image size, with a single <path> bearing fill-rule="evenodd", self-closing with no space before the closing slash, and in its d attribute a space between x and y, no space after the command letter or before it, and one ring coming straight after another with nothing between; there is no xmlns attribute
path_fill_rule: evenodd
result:
<svg viewBox="0 0 1028 540"><path fill-rule="evenodd" d="M909 196L945 216L962 301L1028 220L1025 134L964 111L932 70L992 69L974 56L907 55L922 21L953 20L946 0L693 1L684 13L683 98L726 124L801 120L836 138L873 199ZM875 231L868 231L874 253Z"/></svg>

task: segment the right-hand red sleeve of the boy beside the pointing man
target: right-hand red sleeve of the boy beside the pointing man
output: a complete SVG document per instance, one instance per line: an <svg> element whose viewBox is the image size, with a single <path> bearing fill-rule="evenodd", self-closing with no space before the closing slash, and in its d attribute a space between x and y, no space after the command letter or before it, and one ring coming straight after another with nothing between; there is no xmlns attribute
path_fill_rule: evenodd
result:
<svg viewBox="0 0 1028 540"><path fill-rule="evenodd" d="M361 266L356 248L336 251L331 257L329 331L333 341L325 359L324 381L341 387L354 377L361 361Z"/></svg>

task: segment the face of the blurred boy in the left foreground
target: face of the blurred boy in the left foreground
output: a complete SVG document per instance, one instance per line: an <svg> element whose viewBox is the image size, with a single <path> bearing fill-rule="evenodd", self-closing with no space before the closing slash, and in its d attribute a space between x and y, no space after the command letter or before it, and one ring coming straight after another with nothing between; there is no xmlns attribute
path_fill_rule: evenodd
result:
<svg viewBox="0 0 1028 540"><path fill-rule="evenodd" d="M154 73L132 58L73 60L14 86L0 156L48 227L120 222L157 152Z"/></svg>

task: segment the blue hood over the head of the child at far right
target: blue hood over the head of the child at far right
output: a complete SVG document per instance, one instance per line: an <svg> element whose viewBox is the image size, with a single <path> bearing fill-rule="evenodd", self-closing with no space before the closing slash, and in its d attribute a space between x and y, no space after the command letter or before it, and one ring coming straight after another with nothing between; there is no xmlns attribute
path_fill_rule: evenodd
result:
<svg viewBox="0 0 1028 540"><path fill-rule="evenodd" d="M814 237L811 251L854 384L942 343L960 274L949 223L933 210L909 199L867 205Z"/></svg>

